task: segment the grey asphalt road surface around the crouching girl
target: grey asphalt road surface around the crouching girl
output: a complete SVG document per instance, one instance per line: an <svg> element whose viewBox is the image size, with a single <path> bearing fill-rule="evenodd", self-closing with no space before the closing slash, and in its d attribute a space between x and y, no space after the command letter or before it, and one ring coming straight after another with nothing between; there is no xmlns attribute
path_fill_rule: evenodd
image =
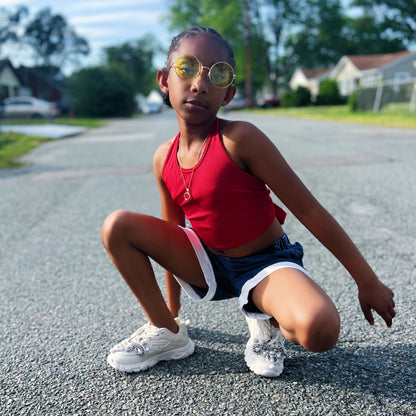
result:
<svg viewBox="0 0 416 416"><path fill-rule="evenodd" d="M101 246L100 226L117 208L160 215L152 154L177 130L171 112L117 120L0 171L1 415L416 414L416 130L226 117L262 128L346 228L395 291L394 326L365 322L352 279L289 215L286 232L340 311L332 351L288 345L282 376L257 377L244 363L237 301L184 296L193 356L140 374L108 367L109 348L144 315Z"/></svg>

